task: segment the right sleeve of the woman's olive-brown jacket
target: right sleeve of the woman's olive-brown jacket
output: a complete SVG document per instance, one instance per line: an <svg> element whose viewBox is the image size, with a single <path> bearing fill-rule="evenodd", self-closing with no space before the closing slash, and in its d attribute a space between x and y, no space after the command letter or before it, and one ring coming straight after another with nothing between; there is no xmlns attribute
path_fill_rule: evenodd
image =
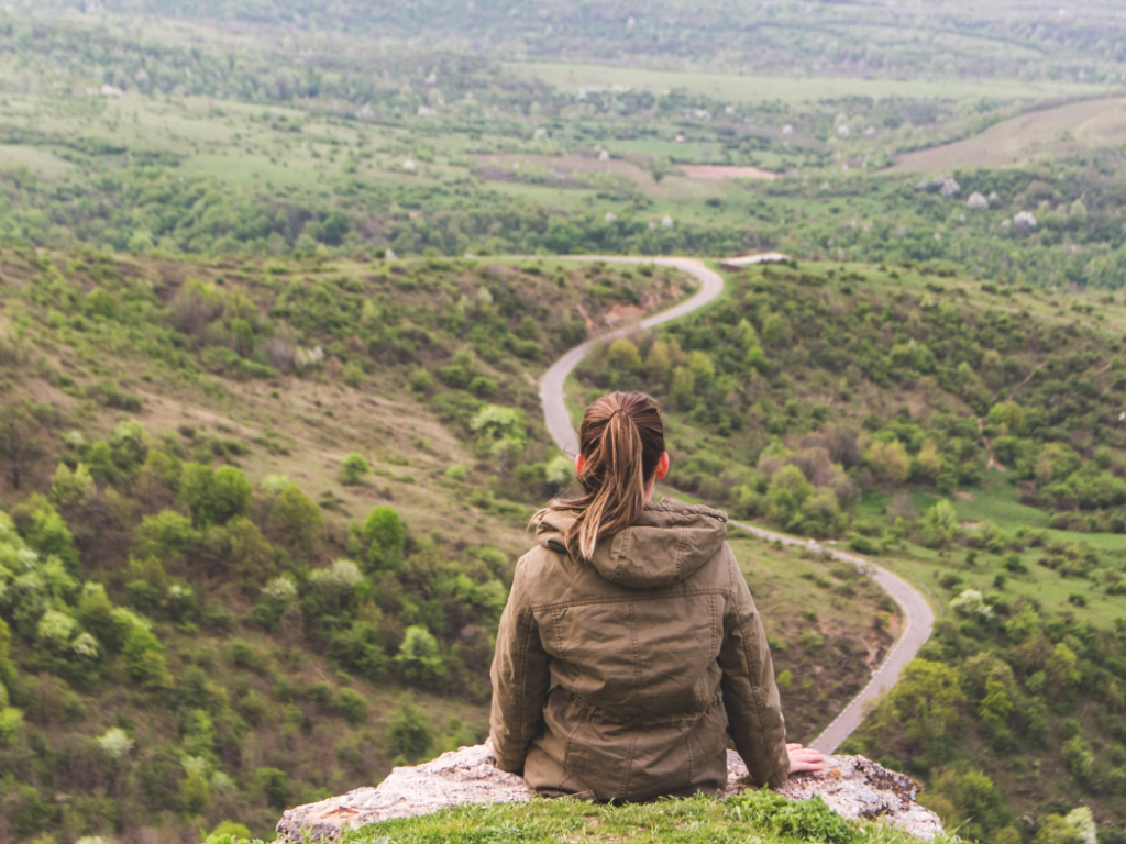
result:
<svg viewBox="0 0 1126 844"><path fill-rule="evenodd" d="M774 662L751 591L726 549L731 595L720 648L721 689L735 749L756 785L780 785L789 775L786 721L775 683Z"/></svg>

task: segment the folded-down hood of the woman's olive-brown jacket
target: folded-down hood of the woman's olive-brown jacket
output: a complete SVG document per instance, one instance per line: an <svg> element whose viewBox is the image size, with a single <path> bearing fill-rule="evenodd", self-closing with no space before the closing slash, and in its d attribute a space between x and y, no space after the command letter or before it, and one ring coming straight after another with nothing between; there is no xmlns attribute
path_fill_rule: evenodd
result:
<svg viewBox="0 0 1126 844"><path fill-rule="evenodd" d="M533 519L536 541L566 554L563 537L575 520L569 510L544 510ZM610 583L654 589L682 581L712 559L727 538L727 514L679 501L645 502L631 527L599 540L591 565Z"/></svg>

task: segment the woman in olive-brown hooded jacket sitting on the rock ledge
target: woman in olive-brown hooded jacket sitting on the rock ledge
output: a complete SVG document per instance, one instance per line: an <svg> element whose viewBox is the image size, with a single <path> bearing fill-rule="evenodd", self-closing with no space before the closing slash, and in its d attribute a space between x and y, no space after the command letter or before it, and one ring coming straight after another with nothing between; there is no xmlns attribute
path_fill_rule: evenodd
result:
<svg viewBox="0 0 1126 844"><path fill-rule="evenodd" d="M547 794L651 800L727 784L727 738L757 785L820 770L786 744L770 649L724 513L654 502L661 411L587 408L582 494L533 518L492 665L497 766Z"/></svg>

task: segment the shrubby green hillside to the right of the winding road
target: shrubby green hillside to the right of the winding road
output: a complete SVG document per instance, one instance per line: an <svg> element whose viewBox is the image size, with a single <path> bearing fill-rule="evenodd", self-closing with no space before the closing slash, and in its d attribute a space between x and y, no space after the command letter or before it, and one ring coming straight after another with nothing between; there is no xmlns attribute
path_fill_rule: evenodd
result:
<svg viewBox="0 0 1126 844"><path fill-rule="evenodd" d="M677 484L931 596L932 641L842 751L923 778L967 837L1087 805L1118 841L1124 325L1117 296L941 264L754 268L705 313L592 354L572 397L644 385L670 411Z"/></svg>

